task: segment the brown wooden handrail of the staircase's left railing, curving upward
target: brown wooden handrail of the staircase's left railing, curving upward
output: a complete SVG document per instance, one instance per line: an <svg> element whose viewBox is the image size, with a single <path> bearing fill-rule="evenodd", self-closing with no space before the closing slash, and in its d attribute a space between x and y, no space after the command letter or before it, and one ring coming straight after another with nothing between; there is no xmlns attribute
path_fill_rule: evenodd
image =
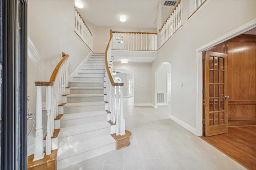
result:
<svg viewBox="0 0 256 170"><path fill-rule="evenodd" d="M36 86L53 86L54 85L55 78L56 78L56 75L59 71L59 68L62 65L62 63L64 63L64 61L66 61L66 59L68 59L69 55L62 52L62 57L63 58L60 60L58 65L53 70L50 80L48 82L35 82Z"/></svg>

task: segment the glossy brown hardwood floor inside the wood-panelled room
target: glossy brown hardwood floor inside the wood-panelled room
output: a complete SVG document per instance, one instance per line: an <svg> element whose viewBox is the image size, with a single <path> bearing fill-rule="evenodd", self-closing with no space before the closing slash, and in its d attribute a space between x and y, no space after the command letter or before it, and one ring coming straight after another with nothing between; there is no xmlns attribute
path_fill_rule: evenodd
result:
<svg viewBox="0 0 256 170"><path fill-rule="evenodd" d="M228 133L202 139L249 170L256 170L256 126L228 127Z"/></svg>

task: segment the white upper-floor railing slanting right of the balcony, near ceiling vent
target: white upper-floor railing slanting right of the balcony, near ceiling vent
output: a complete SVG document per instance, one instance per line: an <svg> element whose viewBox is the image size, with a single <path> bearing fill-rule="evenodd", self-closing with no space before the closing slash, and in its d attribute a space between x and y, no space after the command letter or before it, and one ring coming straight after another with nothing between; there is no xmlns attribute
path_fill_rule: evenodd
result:
<svg viewBox="0 0 256 170"><path fill-rule="evenodd" d="M161 47L172 35L182 26L182 0L180 0L169 17L164 22L160 31L160 46Z"/></svg>

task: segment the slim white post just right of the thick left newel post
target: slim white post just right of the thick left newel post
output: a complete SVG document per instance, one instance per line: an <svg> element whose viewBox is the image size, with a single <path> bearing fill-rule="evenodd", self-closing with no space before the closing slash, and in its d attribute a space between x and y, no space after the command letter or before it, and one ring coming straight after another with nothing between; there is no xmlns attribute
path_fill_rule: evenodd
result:
<svg viewBox="0 0 256 170"><path fill-rule="evenodd" d="M46 155L51 154L51 134L50 134L50 111L51 111L51 88L46 86L46 110L47 110L47 135L46 135Z"/></svg>

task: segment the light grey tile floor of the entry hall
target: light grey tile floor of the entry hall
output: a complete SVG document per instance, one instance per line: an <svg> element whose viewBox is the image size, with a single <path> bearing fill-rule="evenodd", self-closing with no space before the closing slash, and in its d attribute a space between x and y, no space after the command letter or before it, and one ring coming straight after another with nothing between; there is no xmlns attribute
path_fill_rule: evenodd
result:
<svg viewBox="0 0 256 170"><path fill-rule="evenodd" d="M170 106L133 106L124 98L131 145L65 170L246 170L170 119Z"/></svg>

